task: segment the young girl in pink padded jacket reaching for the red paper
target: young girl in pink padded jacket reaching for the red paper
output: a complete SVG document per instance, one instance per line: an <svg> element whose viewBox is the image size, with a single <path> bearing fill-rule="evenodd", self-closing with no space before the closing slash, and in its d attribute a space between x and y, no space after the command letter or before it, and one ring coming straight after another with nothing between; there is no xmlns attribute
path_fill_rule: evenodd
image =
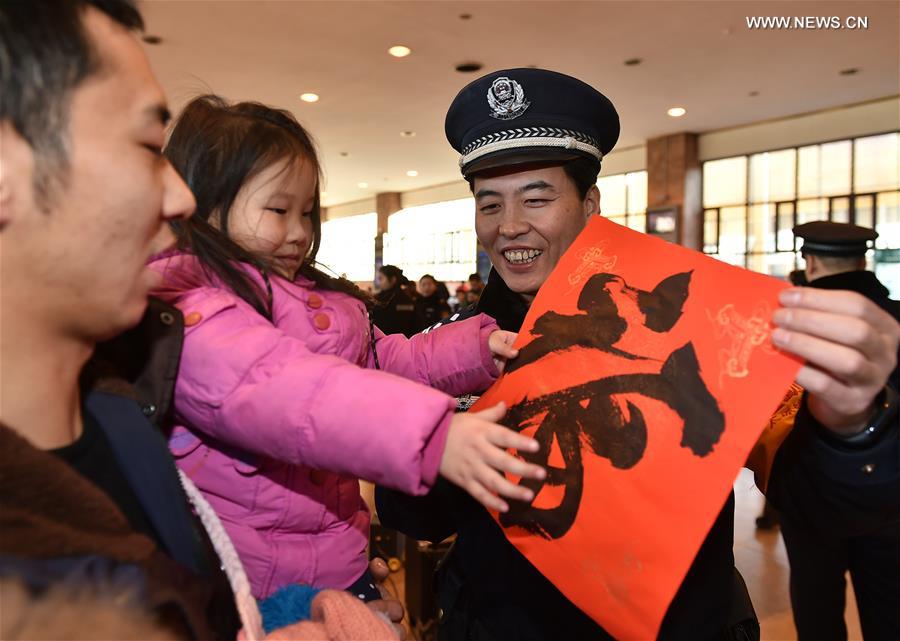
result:
<svg viewBox="0 0 900 641"><path fill-rule="evenodd" d="M537 443L495 423L502 406L454 414L448 395L487 387L513 335L485 316L412 339L374 328L365 297L313 267L320 169L289 113L198 98L166 155L197 199L179 249L152 263L155 295L185 319L169 442L254 596L305 583L378 598L357 478L422 494L440 473L498 510L497 494L533 498L497 470L543 476L505 451Z"/></svg>

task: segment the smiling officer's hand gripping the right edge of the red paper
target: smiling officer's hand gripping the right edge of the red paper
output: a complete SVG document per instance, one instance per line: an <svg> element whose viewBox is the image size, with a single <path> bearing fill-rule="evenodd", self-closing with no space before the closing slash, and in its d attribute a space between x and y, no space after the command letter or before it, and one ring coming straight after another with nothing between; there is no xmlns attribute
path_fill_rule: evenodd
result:
<svg viewBox="0 0 900 641"><path fill-rule="evenodd" d="M780 299L772 341L806 360L797 383L810 412L838 434L859 432L896 367L900 324L855 292L796 287Z"/></svg>

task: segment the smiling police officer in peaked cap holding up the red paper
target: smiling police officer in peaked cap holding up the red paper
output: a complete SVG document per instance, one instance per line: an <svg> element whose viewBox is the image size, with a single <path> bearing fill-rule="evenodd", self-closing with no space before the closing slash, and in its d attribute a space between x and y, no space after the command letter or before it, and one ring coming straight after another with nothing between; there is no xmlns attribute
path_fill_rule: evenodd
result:
<svg viewBox="0 0 900 641"><path fill-rule="evenodd" d="M603 94L576 78L509 69L459 93L446 133L461 156L475 196L476 233L493 263L473 311L518 331L559 258L599 213L596 180L618 139L618 114ZM900 518L900 428L895 399L885 391L900 329L854 293L796 290L783 304L789 311L776 314L780 327L773 340L810 362L797 378L809 396L776 457L770 497L799 518ZM852 340L841 336L847 323L858 330ZM857 441L845 445L845 438ZM861 471L866 463L873 473ZM857 499L871 490L875 477L878 490L861 505ZM383 525L414 538L440 541L457 534L439 571L439 639L611 638L507 541L486 510L449 485L438 482L418 498L378 488L376 503ZM758 638L746 588L734 569L733 524L732 495L669 607L661 639Z"/></svg>

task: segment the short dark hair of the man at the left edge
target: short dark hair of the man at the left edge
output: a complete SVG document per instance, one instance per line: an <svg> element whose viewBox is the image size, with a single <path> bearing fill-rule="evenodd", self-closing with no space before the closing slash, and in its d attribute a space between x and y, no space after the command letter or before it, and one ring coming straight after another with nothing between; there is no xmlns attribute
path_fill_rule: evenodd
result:
<svg viewBox="0 0 900 641"><path fill-rule="evenodd" d="M88 7L144 28L132 0L0 1L0 120L34 150L35 195L44 205L68 168L71 93L100 68L84 28Z"/></svg>

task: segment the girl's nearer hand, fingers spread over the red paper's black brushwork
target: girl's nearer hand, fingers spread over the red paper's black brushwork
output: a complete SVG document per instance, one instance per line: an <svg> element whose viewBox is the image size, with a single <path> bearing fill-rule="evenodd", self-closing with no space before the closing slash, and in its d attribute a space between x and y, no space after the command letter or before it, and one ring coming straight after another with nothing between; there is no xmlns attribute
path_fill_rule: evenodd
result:
<svg viewBox="0 0 900 641"><path fill-rule="evenodd" d="M500 496L531 501L534 492L509 482L501 472L542 479L547 475L539 465L526 463L507 449L536 452L538 442L498 425L506 406L498 403L481 412L455 414L447 433L441 458L441 475L455 483L488 509L506 512L509 506ZM499 470L499 471L498 471Z"/></svg>

